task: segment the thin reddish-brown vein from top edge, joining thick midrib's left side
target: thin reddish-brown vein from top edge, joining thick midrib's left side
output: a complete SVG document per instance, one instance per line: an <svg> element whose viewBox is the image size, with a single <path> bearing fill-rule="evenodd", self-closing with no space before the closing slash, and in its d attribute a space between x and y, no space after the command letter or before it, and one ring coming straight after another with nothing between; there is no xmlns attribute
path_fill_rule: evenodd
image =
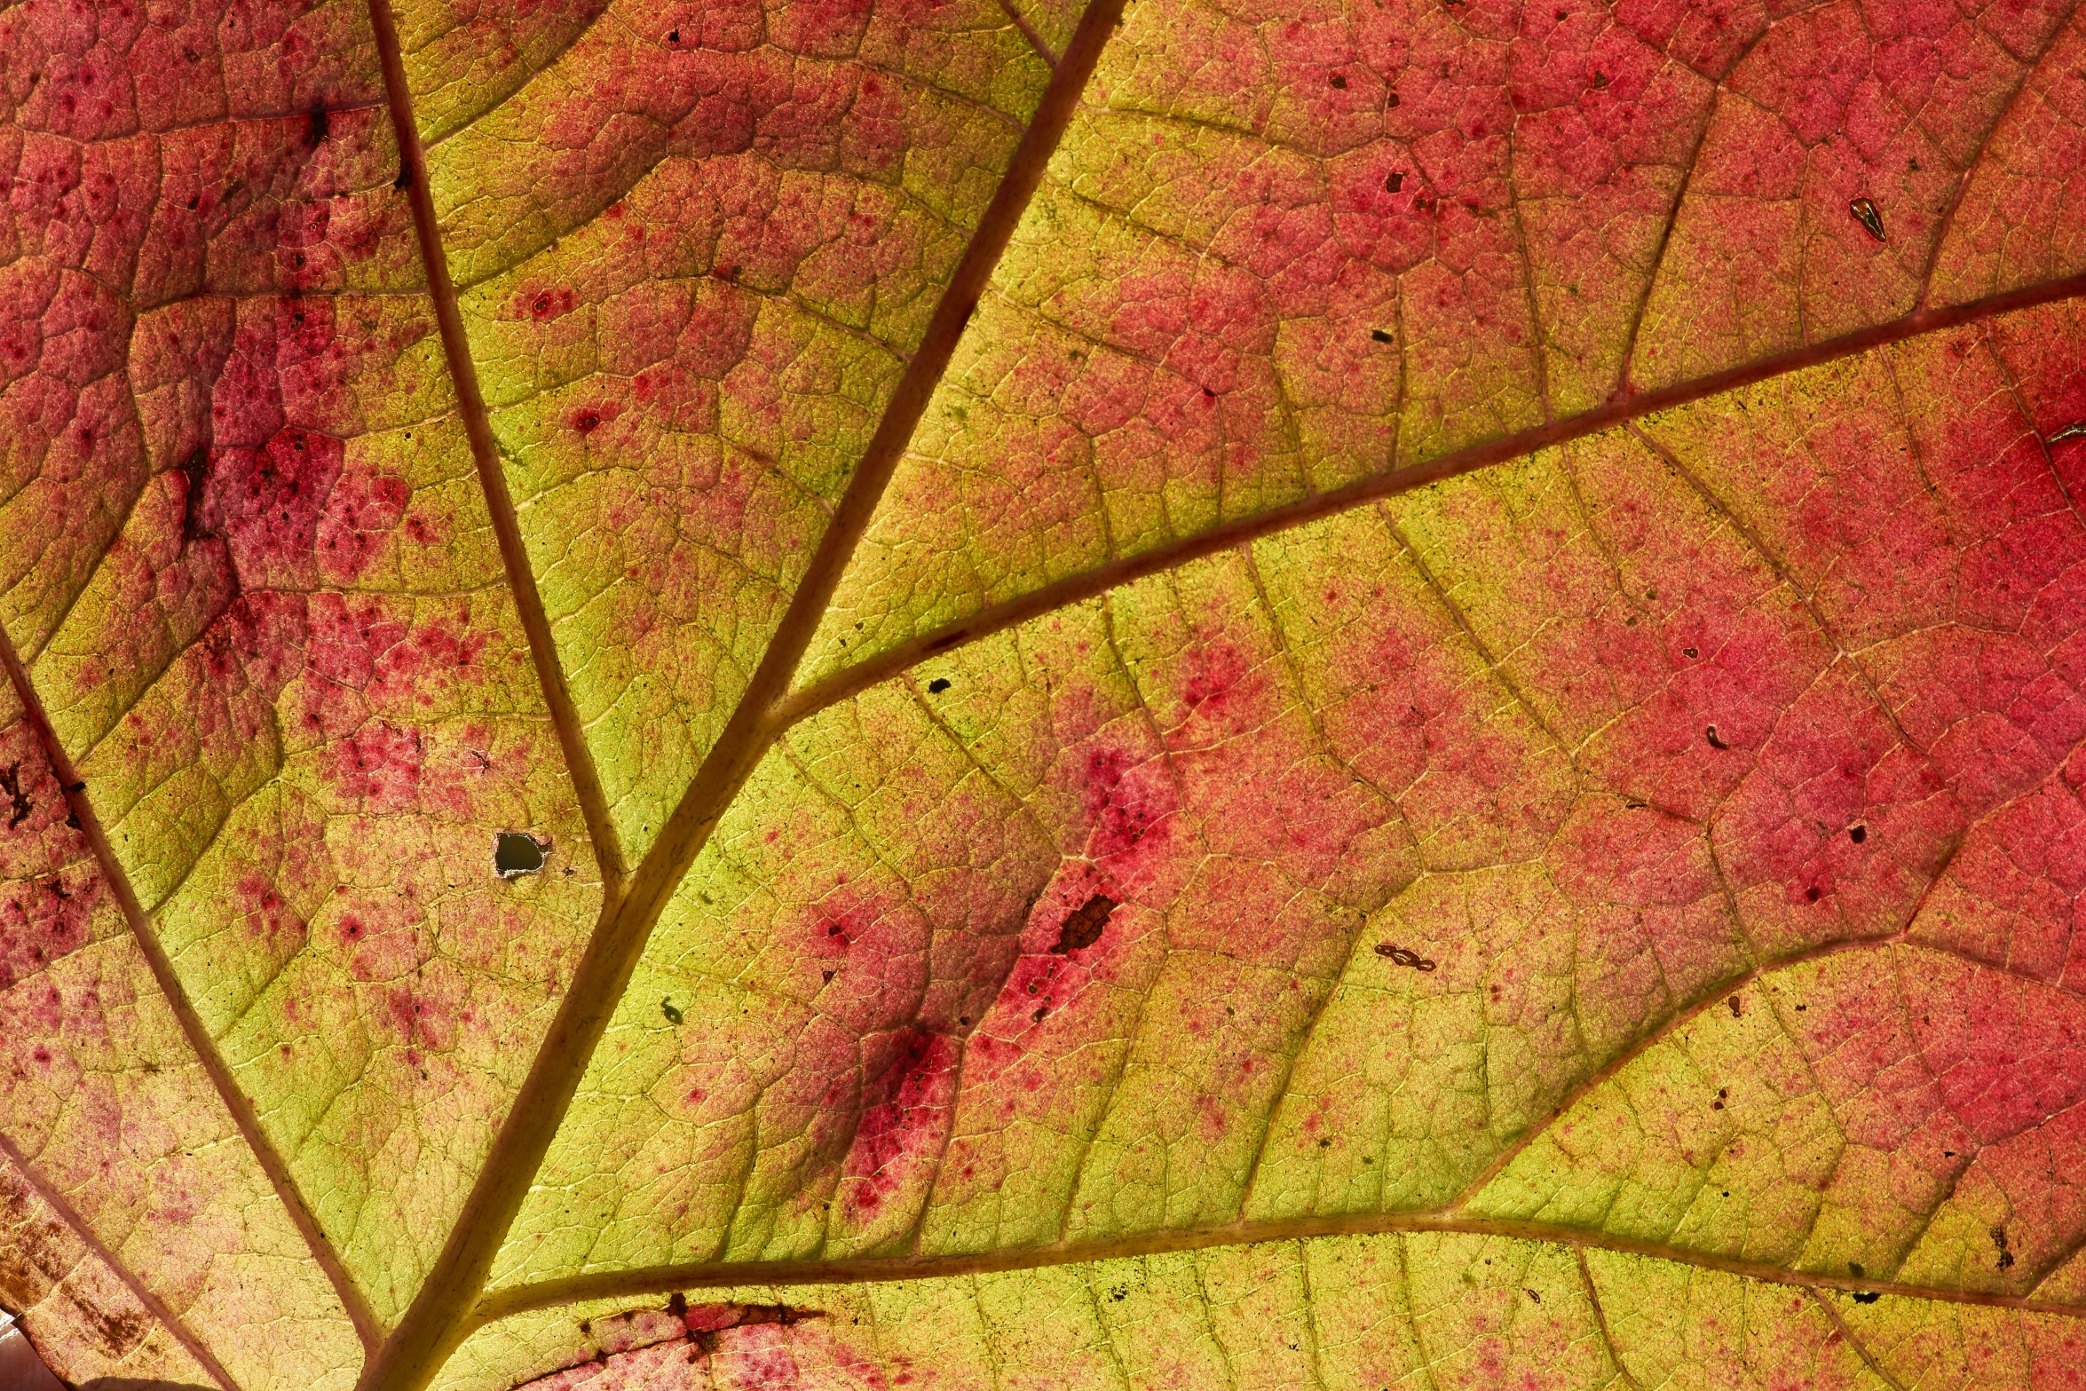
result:
<svg viewBox="0 0 2086 1391"><path fill-rule="evenodd" d="M413 236L419 240L419 259L428 271L428 298L434 302L434 323L442 336L442 359L448 363L448 377L457 388L457 415L463 417L463 434L471 442L471 463L478 467L478 486L486 494L492 536L501 546L507 590L513 594L522 630L528 634L528 655L536 665L536 684L542 688L542 701L551 711L557 745L565 753L565 772L572 776L580 815L586 817L586 836L595 843L595 861L601 865L603 886L613 899L628 874L622 838L615 834L615 822L609 815L609 799L601 788L601 772L595 767L595 755L586 747L586 726L580 724L580 711L572 703L572 688L565 684L565 669L557 661L557 638L551 634L551 619L542 609L536 576L528 565L522 521L515 517L513 494L507 492L507 467L501 459L501 446L492 438L486 398L478 390L478 365L471 363L471 344L463 332L463 311L457 307L457 286L448 277L448 252L442 250L442 229L434 217L434 192L428 188L428 150L421 146L419 125L413 121L405 54L398 48L398 29L392 23L388 0L369 0L369 23L375 29L378 54L384 60L384 96L390 104L392 133L398 138L398 154L405 158L405 171L411 179L407 200L413 204Z"/></svg>

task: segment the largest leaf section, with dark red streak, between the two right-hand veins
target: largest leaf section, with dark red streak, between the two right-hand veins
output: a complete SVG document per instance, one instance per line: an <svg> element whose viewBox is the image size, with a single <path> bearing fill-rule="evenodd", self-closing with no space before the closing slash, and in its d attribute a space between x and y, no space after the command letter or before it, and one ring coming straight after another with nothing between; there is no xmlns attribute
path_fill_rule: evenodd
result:
<svg viewBox="0 0 2086 1391"><path fill-rule="evenodd" d="M805 719L496 1283L1452 1210L2026 1293L2086 1239L2082 346L1792 373Z"/></svg>

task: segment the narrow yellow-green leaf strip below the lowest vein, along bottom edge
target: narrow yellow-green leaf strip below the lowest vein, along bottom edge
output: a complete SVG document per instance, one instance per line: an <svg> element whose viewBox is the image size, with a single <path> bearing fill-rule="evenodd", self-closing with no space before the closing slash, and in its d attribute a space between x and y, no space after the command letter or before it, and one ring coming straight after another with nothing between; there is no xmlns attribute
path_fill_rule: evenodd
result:
<svg viewBox="0 0 2086 1391"><path fill-rule="evenodd" d="M484 1326L436 1385L1952 1391L2082 1360L2076 1316L1423 1233L578 1303Z"/></svg>

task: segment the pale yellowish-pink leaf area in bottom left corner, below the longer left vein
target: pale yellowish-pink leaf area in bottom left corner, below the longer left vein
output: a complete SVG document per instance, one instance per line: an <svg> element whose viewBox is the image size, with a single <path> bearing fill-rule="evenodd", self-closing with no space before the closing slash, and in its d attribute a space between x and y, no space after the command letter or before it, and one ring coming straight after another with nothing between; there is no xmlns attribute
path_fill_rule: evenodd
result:
<svg viewBox="0 0 2086 1391"><path fill-rule="evenodd" d="M0 1305L73 1383L346 1391L355 1328L69 822L0 682Z"/></svg>

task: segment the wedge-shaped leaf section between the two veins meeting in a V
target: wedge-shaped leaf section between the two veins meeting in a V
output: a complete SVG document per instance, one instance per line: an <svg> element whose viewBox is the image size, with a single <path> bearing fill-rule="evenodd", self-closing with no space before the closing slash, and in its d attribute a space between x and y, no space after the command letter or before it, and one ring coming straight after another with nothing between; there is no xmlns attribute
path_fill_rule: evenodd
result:
<svg viewBox="0 0 2086 1391"><path fill-rule="evenodd" d="M409 8L409 29L448 23ZM421 50L415 96L444 133L442 94L496 90L467 81L484 54L561 48L436 144L430 177L636 861L759 663L1049 69L993 0L645 0L563 46L576 15L478 13Z"/></svg>

